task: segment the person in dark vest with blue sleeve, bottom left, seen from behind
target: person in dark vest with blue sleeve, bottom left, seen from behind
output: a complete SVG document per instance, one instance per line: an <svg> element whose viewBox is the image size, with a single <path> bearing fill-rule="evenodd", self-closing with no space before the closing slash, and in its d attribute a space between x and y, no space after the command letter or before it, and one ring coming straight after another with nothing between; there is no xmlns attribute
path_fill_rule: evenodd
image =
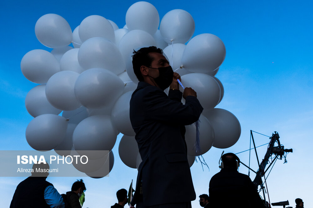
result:
<svg viewBox="0 0 313 208"><path fill-rule="evenodd" d="M18 184L10 208L64 208L62 196L46 181L49 172L40 172L44 169L49 165L33 164L32 176Z"/></svg>

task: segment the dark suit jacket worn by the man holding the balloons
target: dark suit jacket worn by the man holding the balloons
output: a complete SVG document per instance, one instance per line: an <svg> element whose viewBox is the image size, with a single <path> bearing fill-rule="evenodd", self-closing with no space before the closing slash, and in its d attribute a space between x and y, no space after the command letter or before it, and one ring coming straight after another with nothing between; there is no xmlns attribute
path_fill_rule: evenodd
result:
<svg viewBox="0 0 313 208"><path fill-rule="evenodd" d="M196 198L184 134L185 125L196 122L203 108L194 96L187 96L185 105L181 99L179 90L170 90L167 96L145 82L139 82L131 96L131 125L142 158L132 205L139 200L153 206Z"/></svg>

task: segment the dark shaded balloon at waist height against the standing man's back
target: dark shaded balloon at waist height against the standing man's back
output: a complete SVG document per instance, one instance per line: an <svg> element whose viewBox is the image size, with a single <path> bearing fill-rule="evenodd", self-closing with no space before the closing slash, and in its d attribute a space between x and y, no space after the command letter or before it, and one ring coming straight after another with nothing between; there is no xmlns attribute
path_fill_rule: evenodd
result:
<svg viewBox="0 0 313 208"><path fill-rule="evenodd" d="M118 152L125 165L136 168L136 159L139 149L135 137L124 135L118 146Z"/></svg>

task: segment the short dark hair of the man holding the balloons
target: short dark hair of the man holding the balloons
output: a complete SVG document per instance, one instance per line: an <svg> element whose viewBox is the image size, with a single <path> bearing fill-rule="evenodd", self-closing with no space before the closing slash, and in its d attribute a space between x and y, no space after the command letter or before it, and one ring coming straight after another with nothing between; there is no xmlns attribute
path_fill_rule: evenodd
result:
<svg viewBox="0 0 313 208"><path fill-rule="evenodd" d="M141 75L140 67L151 65L153 58L151 56L149 56L149 54L148 54L151 52L163 54L162 49L157 48L156 46L141 48L138 51L134 50L134 52L133 52L134 55L132 55L132 57L133 57L132 63L133 63L134 73L135 73L137 79L141 82L144 81L144 79L143 79L143 76Z"/></svg>

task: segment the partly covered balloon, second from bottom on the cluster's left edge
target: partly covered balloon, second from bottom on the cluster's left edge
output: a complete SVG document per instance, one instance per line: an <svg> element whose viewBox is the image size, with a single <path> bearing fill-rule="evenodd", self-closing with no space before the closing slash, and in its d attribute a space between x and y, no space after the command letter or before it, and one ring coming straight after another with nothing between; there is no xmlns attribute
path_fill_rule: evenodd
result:
<svg viewBox="0 0 313 208"><path fill-rule="evenodd" d="M29 90L25 99L25 106L28 113L36 117L42 114L60 114L62 110L54 108L47 100L46 85L37 85Z"/></svg>

